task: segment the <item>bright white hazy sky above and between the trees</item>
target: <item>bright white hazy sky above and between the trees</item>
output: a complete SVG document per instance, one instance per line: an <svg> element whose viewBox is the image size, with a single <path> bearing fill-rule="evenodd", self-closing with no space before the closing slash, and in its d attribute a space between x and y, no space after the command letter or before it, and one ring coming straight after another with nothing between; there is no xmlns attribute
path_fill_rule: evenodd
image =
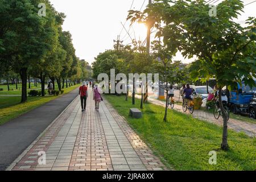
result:
<svg viewBox="0 0 256 182"><path fill-rule="evenodd" d="M130 10L133 0L50 0L57 11L65 13L67 18L63 24L65 31L70 31L72 34L73 44L76 49L76 55L80 59L85 59L89 63L94 61L94 57L99 52L104 52L106 49L113 48L113 40L117 39L117 35L122 30L122 24L125 24L127 11ZM217 5L222 0L214 3ZM254 0L244 0L243 3L253 2ZM135 0L132 6L134 10L142 10L146 7L147 0L143 5L144 0ZM142 6L143 5L143 6ZM256 16L256 2L245 6L244 13L238 18L237 22L243 23L248 16ZM130 23L127 22L125 27L129 30ZM134 35L134 31L135 35ZM135 26L130 28L131 38L136 37L142 42L146 38L146 31L143 26ZM144 32L144 33L143 33ZM121 40L125 40L123 44L131 43L131 39L123 30L120 36ZM154 34L152 34L152 39ZM191 60L184 60L181 55L177 55L177 60L182 60L188 63Z"/></svg>

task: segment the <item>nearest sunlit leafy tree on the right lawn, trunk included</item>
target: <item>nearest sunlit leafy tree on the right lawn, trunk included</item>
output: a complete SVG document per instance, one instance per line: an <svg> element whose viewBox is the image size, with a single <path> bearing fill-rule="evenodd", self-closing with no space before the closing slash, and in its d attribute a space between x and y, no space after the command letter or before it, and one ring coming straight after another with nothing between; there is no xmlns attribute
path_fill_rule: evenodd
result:
<svg viewBox="0 0 256 182"><path fill-rule="evenodd" d="M247 26L234 22L243 10L239 0L222 1L217 6L217 16L209 16L210 7L199 1L156 0L143 13L130 12L134 19L154 22L159 19L164 27L158 36L170 50L179 50L184 57L197 57L191 65L191 76L196 81L215 77L219 88L218 101L224 121L221 148L228 150L228 114L221 101L221 88L238 83L255 85L255 18L247 19Z"/></svg>

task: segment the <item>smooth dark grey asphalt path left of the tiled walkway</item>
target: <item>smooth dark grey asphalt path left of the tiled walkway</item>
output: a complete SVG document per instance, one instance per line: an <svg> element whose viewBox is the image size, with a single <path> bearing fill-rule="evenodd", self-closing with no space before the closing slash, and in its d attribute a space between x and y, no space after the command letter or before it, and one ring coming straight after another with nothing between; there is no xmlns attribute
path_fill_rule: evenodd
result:
<svg viewBox="0 0 256 182"><path fill-rule="evenodd" d="M75 89L0 126L0 171L9 167L77 95Z"/></svg>

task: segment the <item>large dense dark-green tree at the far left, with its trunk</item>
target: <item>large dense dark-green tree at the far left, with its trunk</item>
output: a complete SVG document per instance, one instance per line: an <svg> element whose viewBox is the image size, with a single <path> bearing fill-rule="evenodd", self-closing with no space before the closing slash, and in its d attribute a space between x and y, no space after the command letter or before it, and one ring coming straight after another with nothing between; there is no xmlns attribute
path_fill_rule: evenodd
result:
<svg viewBox="0 0 256 182"><path fill-rule="evenodd" d="M47 2L47 1L43 1ZM1 61L10 64L22 79L22 100L27 101L27 70L31 64L42 60L47 51L51 50L54 39L50 16L40 17L38 5L42 1L3 0L0 4L1 30L0 49ZM22 12L22 13L20 13ZM7 16L6 16L7 15ZM8 23L7 23L8 22Z"/></svg>

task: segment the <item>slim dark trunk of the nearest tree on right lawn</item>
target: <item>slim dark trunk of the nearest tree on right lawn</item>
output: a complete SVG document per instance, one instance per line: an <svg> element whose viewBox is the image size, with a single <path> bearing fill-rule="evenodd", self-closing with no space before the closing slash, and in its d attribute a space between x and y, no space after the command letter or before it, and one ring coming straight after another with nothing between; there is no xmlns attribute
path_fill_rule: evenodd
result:
<svg viewBox="0 0 256 182"><path fill-rule="evenodd" d="M221 149L222 150L229 150L228 145L228 113L224 111L224 106L222 104L221 100L221 88L218 89L218 102L220 104L220 109L222 113L223 118L223 133L222 133L222 143L221 143Z"/></svg>

